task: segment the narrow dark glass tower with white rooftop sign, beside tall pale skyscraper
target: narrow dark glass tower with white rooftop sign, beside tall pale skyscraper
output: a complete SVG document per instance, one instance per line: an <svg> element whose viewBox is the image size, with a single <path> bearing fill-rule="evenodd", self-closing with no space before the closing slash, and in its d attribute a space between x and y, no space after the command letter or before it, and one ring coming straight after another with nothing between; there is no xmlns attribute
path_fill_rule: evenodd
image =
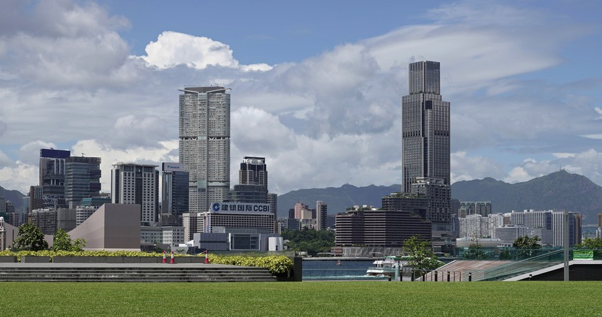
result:
<svg viewBox="0 0 602 317"><path fill-rule="evenodd" d="M181 163L163 163L161 225L182 225L188 212L188 175Z"/></svg>

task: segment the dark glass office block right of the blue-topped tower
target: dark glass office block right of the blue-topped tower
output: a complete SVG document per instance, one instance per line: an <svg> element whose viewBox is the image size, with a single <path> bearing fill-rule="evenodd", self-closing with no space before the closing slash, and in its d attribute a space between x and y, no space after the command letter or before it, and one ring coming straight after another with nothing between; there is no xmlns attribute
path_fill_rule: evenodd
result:
<svg viewBox="0 0 602 317"><path fill-rule="evenodd" d="M99 157L71 156L65 159L65 200L70 208L83 198L98 196L101 185Z"/></svg>

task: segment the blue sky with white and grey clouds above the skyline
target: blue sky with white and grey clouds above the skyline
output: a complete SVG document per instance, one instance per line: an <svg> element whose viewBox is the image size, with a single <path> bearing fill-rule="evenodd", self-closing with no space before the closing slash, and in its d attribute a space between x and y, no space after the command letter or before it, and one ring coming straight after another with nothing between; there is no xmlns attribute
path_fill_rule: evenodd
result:
<svg viewBox="0 0 602 317"><path fill-rule="evenodd" d="M441 62L452 181L565 168L602 185L599 1L4 1L0 185L39 148L177 161L178 88L232 88L232 183L401 183L408 63Z"/></svg>

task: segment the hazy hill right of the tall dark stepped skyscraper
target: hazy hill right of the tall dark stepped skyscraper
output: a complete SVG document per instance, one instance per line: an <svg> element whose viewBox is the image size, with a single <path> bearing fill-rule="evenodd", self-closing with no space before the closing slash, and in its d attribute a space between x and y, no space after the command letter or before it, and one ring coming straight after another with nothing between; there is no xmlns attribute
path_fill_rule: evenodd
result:
<svg viewBox="0 0 602 317"><path fill-rule="evenodd" d="M602 187L589 178L566 171L554 172L523 183L494 178L452 184L452 197L461 201L491 201L493 212L523 209L568 209L583 214L583 223L596 223L602 212Z"/></svg>

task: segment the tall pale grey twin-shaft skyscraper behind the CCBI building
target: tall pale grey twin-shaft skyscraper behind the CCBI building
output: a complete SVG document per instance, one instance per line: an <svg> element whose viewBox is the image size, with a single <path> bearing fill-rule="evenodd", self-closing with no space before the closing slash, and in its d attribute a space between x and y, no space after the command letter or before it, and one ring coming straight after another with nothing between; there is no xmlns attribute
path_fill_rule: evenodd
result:
<svg viewBox="0 0 602 317"><path fill-rule="evenodd" d="M207 212L230 190L230 94L223 87L187 87L179 96L179 154L190 173L190 212Z"/></svg>

